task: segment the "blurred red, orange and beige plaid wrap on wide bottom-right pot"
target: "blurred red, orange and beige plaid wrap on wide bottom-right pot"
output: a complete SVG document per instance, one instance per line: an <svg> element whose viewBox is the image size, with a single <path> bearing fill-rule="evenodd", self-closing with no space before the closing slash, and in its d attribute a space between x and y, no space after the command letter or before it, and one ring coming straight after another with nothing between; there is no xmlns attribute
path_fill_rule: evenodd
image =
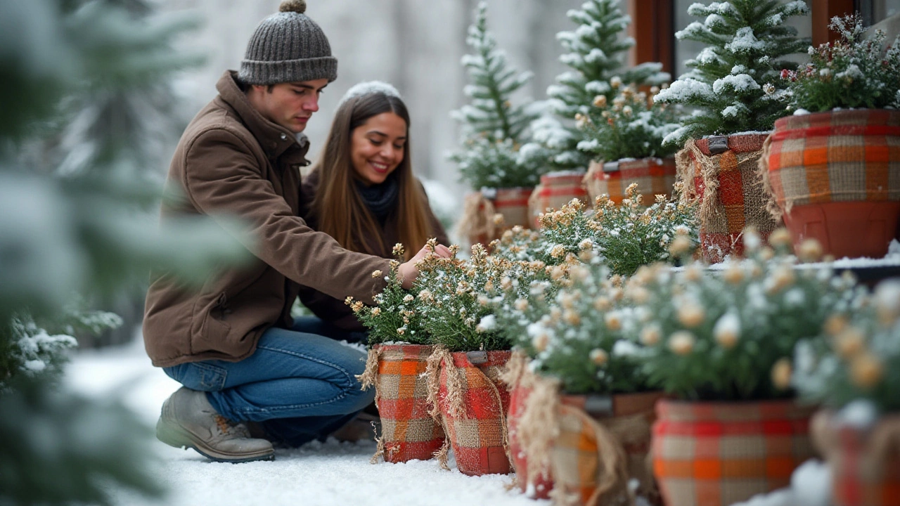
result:
<svg viewBox="0 0 900 506"><path fill-rule="evenodd" d="M813 411L793 401L660 401L653 474L666 504L728 506L788 486L814 456Z"/></svg>

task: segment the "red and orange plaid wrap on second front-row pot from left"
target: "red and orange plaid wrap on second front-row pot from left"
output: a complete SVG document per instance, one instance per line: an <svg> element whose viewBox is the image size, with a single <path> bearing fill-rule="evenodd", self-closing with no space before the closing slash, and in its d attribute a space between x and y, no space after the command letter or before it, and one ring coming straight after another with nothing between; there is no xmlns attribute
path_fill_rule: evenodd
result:
<svg viewBox="0 0 900 506"><path fill-rule="evenodd" d="M509 392L500 379L500 368L509 360L509 351L487 352L487 362L473 365L465 352L452 353L453 366L440 370L438 407L444 420L460 473L469 475L508 474L506 416ZM450 375L458 380L459 391L448 389ZM448 396L462 396L463 412L454 416Z"/></svg>

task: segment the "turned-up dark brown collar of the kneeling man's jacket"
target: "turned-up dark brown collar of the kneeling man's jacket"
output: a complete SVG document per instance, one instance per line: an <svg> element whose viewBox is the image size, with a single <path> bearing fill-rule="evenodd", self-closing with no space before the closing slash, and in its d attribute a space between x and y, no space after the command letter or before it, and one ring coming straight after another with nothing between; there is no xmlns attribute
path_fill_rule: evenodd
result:
<svg viewBox="0 0 900 506"><path fill-rule="evenodd" d="M238 87L238 83L235 81L236 77L238 77L238 72L226 70L219 78L219 82L216 83L216 90L219 91L221 99L229 104L235 113L238 113L247 130L257 138L259 145L266 151L266 155L269 158L279 158L288 149L299 148L301 149L299 158L305 162L303 165L309 165L309 161L304 158L310 149L310 140L306 135L294 134L293 131L263 117L247 100L247 95Z"/></svg>

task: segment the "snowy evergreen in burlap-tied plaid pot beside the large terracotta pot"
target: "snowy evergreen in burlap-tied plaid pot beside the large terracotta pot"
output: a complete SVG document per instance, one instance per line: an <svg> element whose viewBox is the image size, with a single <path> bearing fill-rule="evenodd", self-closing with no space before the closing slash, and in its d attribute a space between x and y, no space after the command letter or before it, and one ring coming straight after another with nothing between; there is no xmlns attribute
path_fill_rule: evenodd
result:
<svg viewBox="0 0 900 506"><path fill-rule="evenodd" d="M679 179L684 198L700 203L700 241L709 262L720 262L732 251L740 255L744 227L754 227L766 239L778 226L765 209L756 164L783 105L764 87L773 92L785 87L779 72L788 62L781 59L809 45L785 23L808 10L803 1L697 3L688 13L705 20L675 34L707 47L688 60L691 70L654 100L694 108L665 142L684 146L676 160Z"/></svg>

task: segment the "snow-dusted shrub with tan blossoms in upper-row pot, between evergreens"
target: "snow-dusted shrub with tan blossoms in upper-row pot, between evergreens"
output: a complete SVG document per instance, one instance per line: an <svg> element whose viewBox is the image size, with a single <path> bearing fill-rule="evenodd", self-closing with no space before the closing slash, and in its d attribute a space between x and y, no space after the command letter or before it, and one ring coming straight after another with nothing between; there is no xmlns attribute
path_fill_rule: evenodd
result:
<svg viewBox="0 0 900 506"><path fill-rule="evenodd" d="M607 95L597 95L589 112L577 115L576 126L585 136L578 149L603 161L673 155L675 146L662 145L662 140L679 128L671 107L648 100L635 86L622 86L616 77L612 87L617 95L611 103ZM660 88L653 86L650 91L655 95Z"/></svg>

